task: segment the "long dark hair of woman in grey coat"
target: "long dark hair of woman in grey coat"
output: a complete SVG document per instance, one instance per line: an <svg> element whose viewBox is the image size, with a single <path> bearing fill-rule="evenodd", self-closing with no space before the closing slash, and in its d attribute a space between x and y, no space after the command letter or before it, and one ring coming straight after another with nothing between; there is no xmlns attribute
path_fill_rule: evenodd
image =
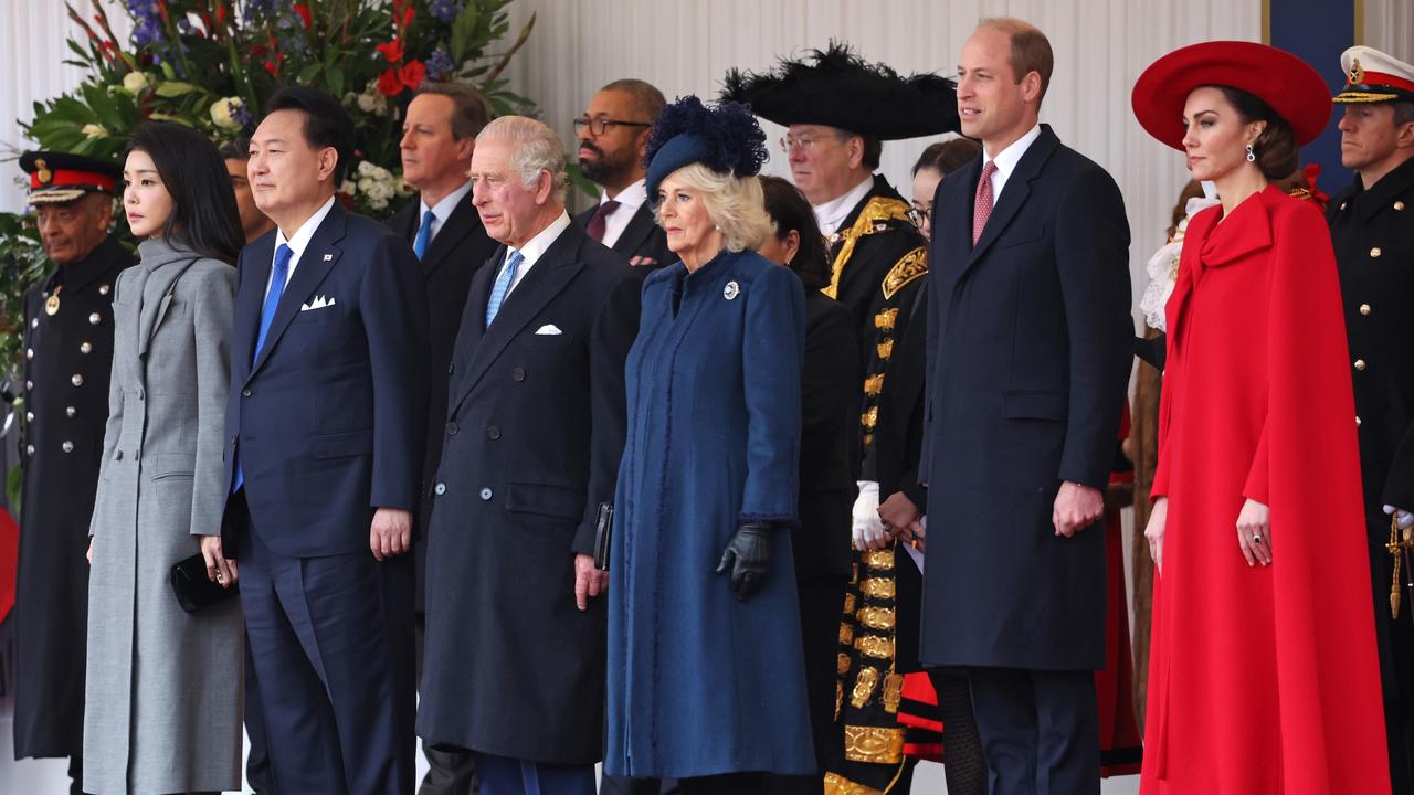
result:
<svg viewBox="0 0 1414 795"><path fill-rule="evenodd" d="M230 191L230 177L216 147L184 124L144 122L133 130L124 156L133 151L146 151L153 158L173 197L163 239L235 265L246 236L236 194Z"/></svg>

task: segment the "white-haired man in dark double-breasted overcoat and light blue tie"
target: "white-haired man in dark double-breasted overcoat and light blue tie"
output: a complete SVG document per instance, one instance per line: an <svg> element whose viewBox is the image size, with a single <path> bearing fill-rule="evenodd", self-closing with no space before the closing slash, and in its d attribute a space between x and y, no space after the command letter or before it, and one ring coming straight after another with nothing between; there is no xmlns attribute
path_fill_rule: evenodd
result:
<svg viewBox="0 0 1414 795"><path fill-rule="evenodd" d="M427 539L417 733L496 794L590 795L602 758L607 574L595 516L624 451L638 282L564 212L543 123L477 136L472 197L502 248L471 283Z"/></svg>

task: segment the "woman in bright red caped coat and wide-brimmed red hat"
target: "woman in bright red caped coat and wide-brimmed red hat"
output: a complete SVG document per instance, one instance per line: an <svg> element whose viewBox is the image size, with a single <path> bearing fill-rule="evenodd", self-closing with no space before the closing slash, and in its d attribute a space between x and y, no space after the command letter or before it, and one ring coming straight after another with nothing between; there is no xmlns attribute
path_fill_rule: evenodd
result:
<svg viewBox="0 0 1414 795"><path fill-rule="evenodd" d="M1168 301L1145 795L1387 794L1350 359L1321 212L1268 185L1331 115L1280 50L1165 55L1134 112L1222 198Z"/></svg>

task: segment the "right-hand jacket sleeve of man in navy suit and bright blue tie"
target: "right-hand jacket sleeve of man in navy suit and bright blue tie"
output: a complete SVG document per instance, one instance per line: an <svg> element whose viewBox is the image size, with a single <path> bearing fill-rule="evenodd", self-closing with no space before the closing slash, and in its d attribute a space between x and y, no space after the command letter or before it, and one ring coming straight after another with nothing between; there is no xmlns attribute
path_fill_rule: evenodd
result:
<svg viewBox="0 0 1414 795"><path fill-rule="evenodd" d="M399 238L375 242L359 286L373 375L373 508L417 509L426 430L427 293L417 260Z"/></svg>

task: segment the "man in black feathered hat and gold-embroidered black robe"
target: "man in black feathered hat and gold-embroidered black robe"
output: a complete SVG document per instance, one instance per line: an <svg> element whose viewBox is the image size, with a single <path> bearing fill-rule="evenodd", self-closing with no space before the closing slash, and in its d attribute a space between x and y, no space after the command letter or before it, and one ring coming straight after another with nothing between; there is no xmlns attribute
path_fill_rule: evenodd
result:
<svg viewBox="0 0 1414 795"><path fill-rule="evenodd" d="M833 665L837 673L839 736L834 748L823 750L824 789L902 792L913 765L902 751L898 709L904 672L918 669L921 573L878 516L875 431L891 365L918 368L922 381L925 362L904 362L895 348L926 282L928 243L909 219L911 205L874 170L884 140L956 132L956 92L946 78L904 78L831 44L813 51L809 62L785 62L771 74L732 71L721 99L788 127L781 149L830 243L830 284L823 291L850 310L863 352L855 555L840 654L806 661Z"/></svg>

